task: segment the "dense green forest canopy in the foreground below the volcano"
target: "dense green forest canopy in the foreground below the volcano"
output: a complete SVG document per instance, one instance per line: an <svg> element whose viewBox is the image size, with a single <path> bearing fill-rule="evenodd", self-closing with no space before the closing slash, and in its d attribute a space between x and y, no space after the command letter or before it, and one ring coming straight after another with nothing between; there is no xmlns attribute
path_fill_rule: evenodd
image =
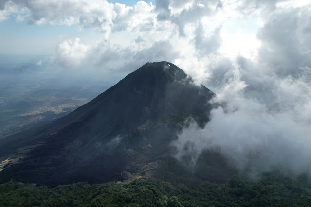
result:
<svg viewBox="0 0 311 207"><path fill-rule="evenodd" d="M197 189L156 179L105 184L76 183L47 188L10 181L0 185L0 206L310 206L311 182L265 174L237 175L225 184Z"/></svg>

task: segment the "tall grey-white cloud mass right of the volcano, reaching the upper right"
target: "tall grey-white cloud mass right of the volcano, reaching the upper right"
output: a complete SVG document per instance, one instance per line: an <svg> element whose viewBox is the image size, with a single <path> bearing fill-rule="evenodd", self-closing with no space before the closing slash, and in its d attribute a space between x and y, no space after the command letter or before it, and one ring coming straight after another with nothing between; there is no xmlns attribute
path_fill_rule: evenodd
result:
<svg viewBox="0 0 311 207"><path fill-rule="evenodd" d="M310 11L275 7L256 33L256 58L210 65L207 86L224 106L203 129L192 123L183 130L172 143L177 159L194 167L202 151L216 150L249 173L311 173Z"/></svg>

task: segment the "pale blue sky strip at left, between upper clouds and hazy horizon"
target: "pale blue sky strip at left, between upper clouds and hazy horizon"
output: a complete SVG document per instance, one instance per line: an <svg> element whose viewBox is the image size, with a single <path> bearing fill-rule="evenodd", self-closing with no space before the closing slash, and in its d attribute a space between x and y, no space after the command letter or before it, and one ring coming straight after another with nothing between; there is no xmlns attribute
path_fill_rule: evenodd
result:
<svg viewBox="0 0 311 207"><path fill-rule="evenodd" d="M77 28L77 25L32 25L27 21L16 22L16 17L11 16L0 22L0 54L51 55L64 40L79 37L81 42L94 44L104 36L92 29Z"/></svg>

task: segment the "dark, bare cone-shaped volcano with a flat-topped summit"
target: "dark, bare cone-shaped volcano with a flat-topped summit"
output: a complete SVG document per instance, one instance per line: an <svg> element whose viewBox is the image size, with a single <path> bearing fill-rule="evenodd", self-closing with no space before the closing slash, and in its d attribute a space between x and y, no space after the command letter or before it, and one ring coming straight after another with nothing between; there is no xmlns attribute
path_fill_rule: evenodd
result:
<svg viewBox="0 0 311 207"><path fill-rule="evenodd" d="M189 117L201 125L209 121L213 96L172 63L146 63L47 128L0 140L0 181L57 185L137 175L184 180L187 170L172 158L169 143ZM215 174L224 161L212 154L209 160L217 164L201 159L198 178L221 177Z"/></svg>

